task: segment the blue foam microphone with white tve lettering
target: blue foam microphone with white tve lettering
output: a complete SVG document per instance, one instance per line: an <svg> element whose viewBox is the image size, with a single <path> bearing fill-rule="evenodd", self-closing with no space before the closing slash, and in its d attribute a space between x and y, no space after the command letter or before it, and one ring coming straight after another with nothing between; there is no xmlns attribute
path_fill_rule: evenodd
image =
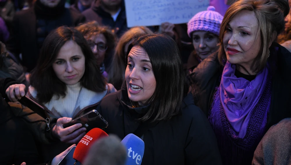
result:
<svg viewBox="0 0 291 165"><path fill-rule="evenodd" d="M134 134L126 135L121 143L127 150L127 161L125 165L141 164L145 150L145 143Z"/></svg>

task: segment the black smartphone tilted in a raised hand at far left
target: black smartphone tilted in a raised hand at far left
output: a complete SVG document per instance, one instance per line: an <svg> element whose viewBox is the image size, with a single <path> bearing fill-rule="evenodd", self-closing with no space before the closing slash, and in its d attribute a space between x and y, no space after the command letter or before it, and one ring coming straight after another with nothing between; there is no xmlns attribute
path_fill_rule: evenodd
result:
<svg viewBox="0 0 291 165"><path fill-rule="evenodd" d="M27 97L26 95L21 97L20 100L18 100L22 105L28 107L38 115L40 115L42 118L47 118L48 116L46 115L47 113L45 112L45 108L42 107L40 104L37 102L33 101L31 98Z"/></svg>

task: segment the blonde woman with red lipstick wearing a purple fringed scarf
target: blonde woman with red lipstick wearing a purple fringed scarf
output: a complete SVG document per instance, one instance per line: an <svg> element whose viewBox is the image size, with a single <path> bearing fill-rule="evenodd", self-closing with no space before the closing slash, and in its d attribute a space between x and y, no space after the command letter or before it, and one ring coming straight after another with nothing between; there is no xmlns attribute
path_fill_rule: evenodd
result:
<svg viewBox="0 0 291 165"><path fill-rule="evenodd" d="M286 0L236 1L222 20L218 52L191 73L224 165L251 164L265 132L291 117L291 53L274 42L288 12Z"/></svg>

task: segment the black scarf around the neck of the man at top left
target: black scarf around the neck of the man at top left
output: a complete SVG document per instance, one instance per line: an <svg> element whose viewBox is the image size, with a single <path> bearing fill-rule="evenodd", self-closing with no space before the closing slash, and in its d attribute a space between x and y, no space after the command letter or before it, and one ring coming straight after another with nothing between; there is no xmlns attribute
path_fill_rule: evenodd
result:
<svg viewBox="0 0 291 165"><path fill-rule="evenodd" d="M65 0L61 0L56 7L50 8L42 4L40 0L37 0L34 5L34 10L38 18L55 19L65 11L65 2Z"/></svg>

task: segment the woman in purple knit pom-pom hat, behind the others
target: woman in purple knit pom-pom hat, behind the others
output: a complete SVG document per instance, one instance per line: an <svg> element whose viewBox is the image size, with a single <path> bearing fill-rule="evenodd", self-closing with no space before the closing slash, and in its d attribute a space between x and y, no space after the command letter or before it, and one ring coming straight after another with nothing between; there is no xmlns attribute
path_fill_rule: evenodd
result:
<svg viewBox="0 0 291 165"><path fill-rule="evenodd" d="M193 69L218 49L218 36L223 16L209 6L206 11L194 15L188 22L187 33L192 38L195 50L190 54L187 70Z"/></svg>

